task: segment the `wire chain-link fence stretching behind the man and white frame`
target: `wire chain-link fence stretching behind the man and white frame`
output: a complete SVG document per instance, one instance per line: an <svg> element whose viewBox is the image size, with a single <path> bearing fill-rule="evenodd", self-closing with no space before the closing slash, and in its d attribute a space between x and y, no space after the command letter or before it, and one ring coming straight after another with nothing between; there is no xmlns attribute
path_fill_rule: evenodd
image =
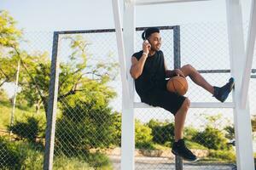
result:
<svg viewBox="0 0 256 170"><path fill-rule="evenodd" d="M214 86L224 85L230 77L227 26L188 24L179 26L179 31L181 65L193 65ZM141 33L136 34L136 51L142 48ZM160 33L161 50L172 70L173 27ZM43 168L52 35L27 32L20 48L5 52L16 57L12 65L5 62L5 67L16 71L20 60L20 77L13 124L15 74L13 81L1 87L0 168ZM113 30L60 34L54 169L120 169L122 93L116 47ZM253 77L249 97L255 115ZM187 79L185 95L192 102L218 102ZM137 94L135 101L140 101ZM232 101L231 95L227 101ZM172 114L160 108L140 108L135 109L135 118L136 169L175 169ZM183 169L231 169L236 164L232 109L189 109L184 138L201 160L195 165L185 161Z"/></svg>

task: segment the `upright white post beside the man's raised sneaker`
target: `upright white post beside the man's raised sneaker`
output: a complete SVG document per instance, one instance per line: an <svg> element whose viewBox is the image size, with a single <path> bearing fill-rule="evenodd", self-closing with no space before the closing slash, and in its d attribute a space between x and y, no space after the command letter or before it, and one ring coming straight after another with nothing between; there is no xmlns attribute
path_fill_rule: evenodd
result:
<svg viewBox="0 0 256 170"><path fill-rule="evenodd" d="M230 66L235 78L234 124L236 137L236 165L238 170L254 169L253 137L249 106L241 108L242 69L245 65L245 48L242 28L241 3L226 0L230 47Z"/></svg>

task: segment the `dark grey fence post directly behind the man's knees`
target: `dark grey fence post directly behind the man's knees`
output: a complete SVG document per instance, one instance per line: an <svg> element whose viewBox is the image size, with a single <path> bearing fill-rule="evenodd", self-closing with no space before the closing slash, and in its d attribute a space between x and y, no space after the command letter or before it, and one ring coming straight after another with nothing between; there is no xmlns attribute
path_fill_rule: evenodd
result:
<svg viewBox="0 0 256 170"><path fill-rule="evenodd" d="M174 69L179 69L181 67L180 59L180 28L179 26L173 27L173 60L174 60ZM175 169L183 170L183 158L180 156L175 156Z"/></svg>

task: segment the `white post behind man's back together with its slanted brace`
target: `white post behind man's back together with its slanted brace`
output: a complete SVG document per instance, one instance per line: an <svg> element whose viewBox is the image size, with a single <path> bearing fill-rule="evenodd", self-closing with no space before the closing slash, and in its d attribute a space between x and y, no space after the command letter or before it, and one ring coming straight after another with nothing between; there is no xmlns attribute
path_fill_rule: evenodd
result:
<svg viewBox="0 0 256 170"><path fill-rule="evenodd" d="M134 34L134 32L131 33L131 31L134 31L134 29L130 28L129 24L131 24L131 22L134 22L134 8L131 5L131 2L128 2L127 4L125 3L125 23L123 31L124 37L122 32L119 8L119 0L113 0L113 16L116 29L117 46L119 51L119 64L121 68L120 71L122 79L121 169L132 170L134 169L135 127L133 111L133 88L131 88L132 82L131 76L129 74L131 60L128 60L128 58L133 53L134 38L129 36L131 36L131 34ZM126 23L129 24L127 25ZM134 25L131 24L131 27L134 27Z"/></svg>

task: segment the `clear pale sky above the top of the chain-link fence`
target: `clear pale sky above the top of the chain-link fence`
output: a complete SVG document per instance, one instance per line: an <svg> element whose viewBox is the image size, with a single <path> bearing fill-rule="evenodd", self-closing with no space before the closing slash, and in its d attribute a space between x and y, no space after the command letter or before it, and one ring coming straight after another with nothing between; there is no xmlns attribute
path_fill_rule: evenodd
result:
<svg viewBox="0 0 256 170"><path fill-rule="evenodd" d="M241 0L244 20L248 20L250 2ZM114 27L111 0L0 0L0 9L8 10L26 31ZM137 26L226 21L225 0L138 6L136 13Z"/></svg>

